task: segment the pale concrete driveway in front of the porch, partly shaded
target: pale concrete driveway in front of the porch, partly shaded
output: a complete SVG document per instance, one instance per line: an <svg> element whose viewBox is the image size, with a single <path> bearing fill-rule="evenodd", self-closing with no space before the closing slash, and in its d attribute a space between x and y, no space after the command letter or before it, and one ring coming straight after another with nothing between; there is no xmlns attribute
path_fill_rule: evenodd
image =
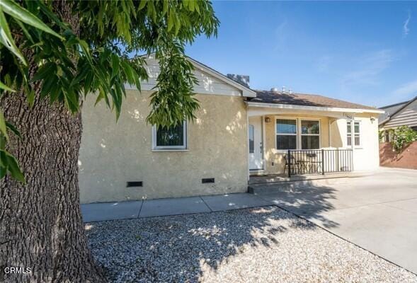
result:
<svg viewBox="0 0 417 283"><path fill-rule="evenodd" d="M258 196L417 273L417 171L380 168Z"/></svg>

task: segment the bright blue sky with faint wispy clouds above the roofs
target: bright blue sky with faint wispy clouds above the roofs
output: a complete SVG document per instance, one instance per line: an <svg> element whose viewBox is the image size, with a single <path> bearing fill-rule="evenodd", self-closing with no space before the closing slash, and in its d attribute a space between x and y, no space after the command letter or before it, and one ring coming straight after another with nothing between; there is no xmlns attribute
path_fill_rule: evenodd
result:
<svg viewBox="0 0 417 283"><path fill-rule="evenodd" d="M188 56L273 87L381 107L417 96L416 2L213 1Z"/></svg>

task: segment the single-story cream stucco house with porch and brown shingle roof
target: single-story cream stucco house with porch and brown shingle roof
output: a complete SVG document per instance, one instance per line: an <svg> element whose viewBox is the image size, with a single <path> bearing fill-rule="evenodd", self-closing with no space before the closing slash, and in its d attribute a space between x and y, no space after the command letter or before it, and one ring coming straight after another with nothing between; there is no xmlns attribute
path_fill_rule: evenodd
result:
<svg viewBox="0 0 417 283"><path fill-rule="evenodd" d="M117 123L104 103L94 107L93 99L86 100L81 202L246 192L251 174L287 174L289 150L296 156L292 170L379 166L377 116L382 110L324 96L254 91L248 76L224 76L189 60L199 80L194 122L168 130L145 122L159 72L152 57L142 93L127 86Z"/></svg>

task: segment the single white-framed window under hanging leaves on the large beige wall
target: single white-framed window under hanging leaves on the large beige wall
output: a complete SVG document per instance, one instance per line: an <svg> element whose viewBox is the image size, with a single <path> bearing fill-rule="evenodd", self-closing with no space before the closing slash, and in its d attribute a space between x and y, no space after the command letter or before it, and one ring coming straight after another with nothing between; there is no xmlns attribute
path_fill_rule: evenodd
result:
<svg viewBox="0 0 417 283"><path fill-rule="evenodd" d="M187 149L186 123L174 127L153 127L154 149Z"/></svg>

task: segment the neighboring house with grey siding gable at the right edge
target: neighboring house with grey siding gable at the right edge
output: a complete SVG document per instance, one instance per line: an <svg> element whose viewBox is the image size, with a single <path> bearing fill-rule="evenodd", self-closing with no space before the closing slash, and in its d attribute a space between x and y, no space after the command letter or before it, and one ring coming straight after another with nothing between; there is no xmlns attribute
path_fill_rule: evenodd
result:
<svg viewBox="0 0 417 283"><path fill-rule="evenodd" d="M409 101L387 105L379 109L384 110L384 113L379 115L379 129L409 126L417 131L417 96ZM385 135L384 141L389 141L389 134Z"/></svg>

